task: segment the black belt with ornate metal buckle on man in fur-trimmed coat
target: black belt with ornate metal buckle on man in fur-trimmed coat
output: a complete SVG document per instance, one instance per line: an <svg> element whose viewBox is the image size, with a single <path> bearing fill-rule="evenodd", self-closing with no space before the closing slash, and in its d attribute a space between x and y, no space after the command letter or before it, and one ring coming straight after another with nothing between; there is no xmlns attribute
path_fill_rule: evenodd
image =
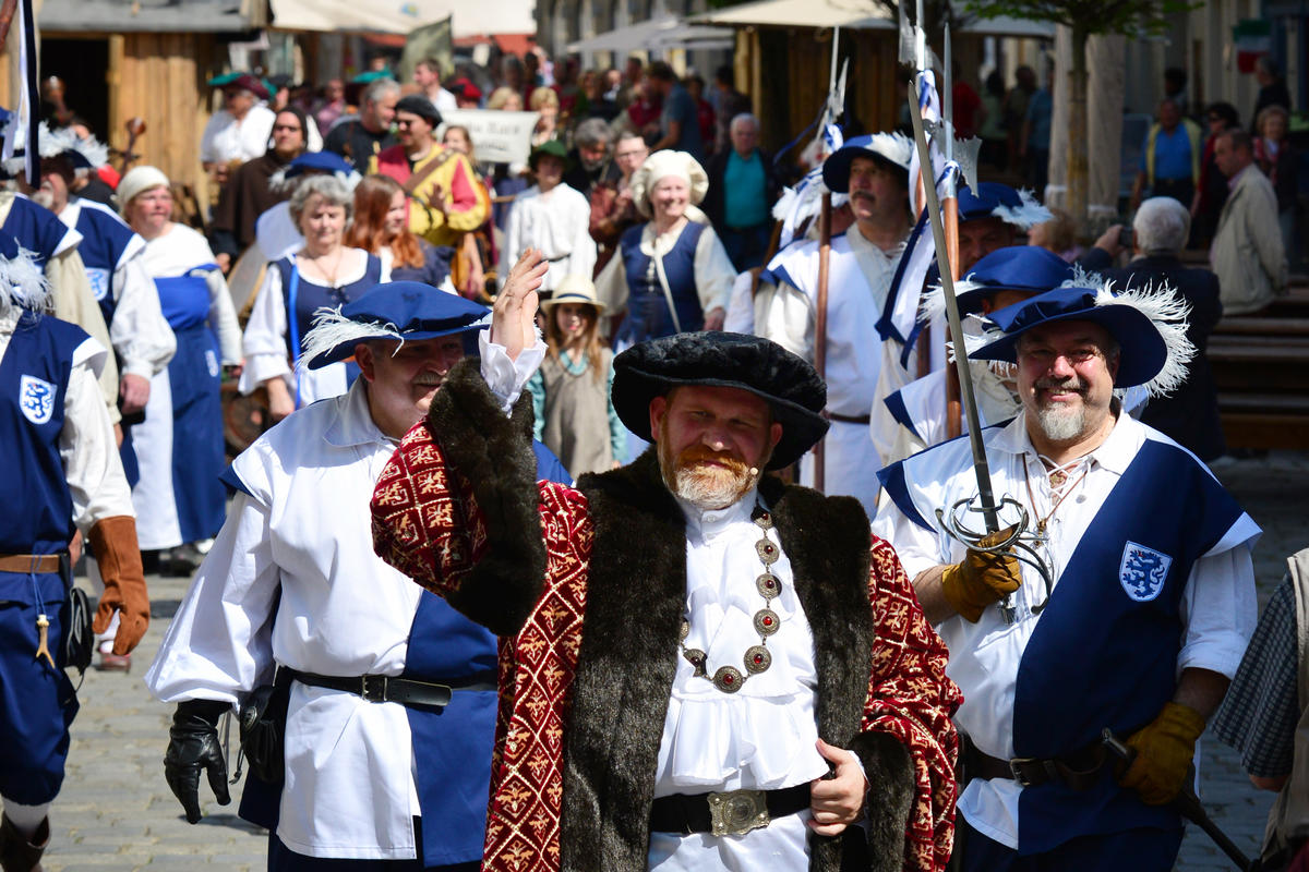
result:
<svg viewBox="0 0 1309 872"><path fill-rule="evenodd" d="M729 790L660 796L651 807L652 833L744 835L809 808L809 784L783 790Z"/></svg>

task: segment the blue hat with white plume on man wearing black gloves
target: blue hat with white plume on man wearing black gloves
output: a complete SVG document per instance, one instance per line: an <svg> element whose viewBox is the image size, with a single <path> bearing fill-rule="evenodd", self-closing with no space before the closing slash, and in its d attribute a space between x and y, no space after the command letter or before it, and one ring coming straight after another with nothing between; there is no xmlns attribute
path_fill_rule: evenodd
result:
<svg viewBox="0 0 1309 872"><path fill-rule="evenodd" d="M418 281L377 285L338 309L319 309L304 340L301 365L317 370L343 361L370 340L418 341L478 331L491 310Z"/></svg>

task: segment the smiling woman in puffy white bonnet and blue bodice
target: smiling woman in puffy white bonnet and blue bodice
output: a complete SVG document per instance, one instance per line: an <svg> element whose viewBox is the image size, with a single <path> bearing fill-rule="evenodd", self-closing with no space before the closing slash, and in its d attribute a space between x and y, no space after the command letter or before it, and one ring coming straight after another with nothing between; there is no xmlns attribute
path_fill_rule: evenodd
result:
<svg viewBox="0 0 1309 872"><path fill-rule="evenodd" d="M708 188L686 152L656 152L632 174L632 200L648 221L619 239L618 255L596 278L606 314L626 316L619 350L699 329L721 329L736 269L695 204Z"/></svg>

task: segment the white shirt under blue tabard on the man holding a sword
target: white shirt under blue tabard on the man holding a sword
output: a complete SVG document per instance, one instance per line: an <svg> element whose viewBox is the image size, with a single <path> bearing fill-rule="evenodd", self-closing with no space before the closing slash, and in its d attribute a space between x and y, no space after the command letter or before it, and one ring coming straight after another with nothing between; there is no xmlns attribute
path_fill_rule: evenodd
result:
<svg viewBox="0 0 1309 872"><path fill-rule="evenodd" d="M987 431L987 460L996 495L1008 494L1024 503L1035 523L1035 518L1050 514L1052 499L1045 465L1028 437L1025 417L1026 413L1020 413L1008 426ZM1055 586L1100 506L1148 439L1175 444L1157 430L1127 414L1119 414L1105 442L1090 452L1090 467L1085 477L1072 485L1067 498L1049 520L1050 543L1043 553L1051 566ZM937 447L932 458L932 469L923 464L922 477L914 475L912 465L906 467L910 495L923 518L935 518L936 507L949 509L957 499L977 493L971 451L966 439ZM1030 476L1025 476L1024 458ZM1035 506L1030 505L1029 484ZM1001 524L1004 523L1011 522L1001 519ZM873 532L891 543L910 578L932 566L963 560L963 545L944 532L929 532L919 527L885 495L873 520ZM1259 528L1249 515L1242 514L1223 540L1192 565L1181 600L1185 631L1177 656L1178 675L1192 667L1211 669L1229 679L1236 673L1255 622L1250 549L1258 535ZM1022 587L1013 595L1016 624L1005 625L999 609L990 607L977 624L953 616L936 626L950 650L945 673L963 692L963 705L954 722L983 753L992 757L1014 756L1013 697L1017 669L1037 626L1031 607L1045 596L1041 577L1024 565ZM1021 791L1018 783L1011 779L974 779L959 797L958 809L969 824L988 838L1017 848Z"/></svg>

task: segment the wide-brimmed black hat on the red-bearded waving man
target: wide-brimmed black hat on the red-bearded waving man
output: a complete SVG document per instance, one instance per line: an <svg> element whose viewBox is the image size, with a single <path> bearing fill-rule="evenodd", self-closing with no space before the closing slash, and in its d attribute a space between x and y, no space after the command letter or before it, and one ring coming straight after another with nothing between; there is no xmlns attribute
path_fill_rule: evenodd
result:
<svg viewBox="0 0 1309 872"><path fill-rule="evenodd" d="M767 400L781 425L768 469L800 459L827 433L827 386L817 370L776 343L742 333L678 333L634 345L614 358L614 411L653 442L649 405L682 384L736 387Z"/></svg>

